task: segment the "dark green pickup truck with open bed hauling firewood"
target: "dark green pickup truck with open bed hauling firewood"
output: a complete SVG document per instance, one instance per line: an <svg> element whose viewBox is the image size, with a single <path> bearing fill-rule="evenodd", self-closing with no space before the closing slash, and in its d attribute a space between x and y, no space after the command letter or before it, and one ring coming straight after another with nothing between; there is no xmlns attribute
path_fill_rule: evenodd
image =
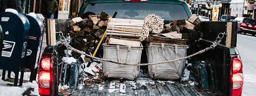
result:
<svg viewBox="0 0 256 96"><path fill-rule="evenodd" d="M170 20L187 20L192 15L187 3L183 0L85 0L78 17L83 18L86 13L99 14L102 10L109 15L118 12L116 18L138 20L143 20L148 14L156 14L163 18L165 23ZM68 31L65 32L63 30L65 28L60 27L68 25L69 20L56 20L56 23L56 31L62 31L67 37ZM220 32L227 31L226 25L227 22L203 22L204 34L194 34L195 37L202 39L198 40L199 38L192 38L190 35L190 40L194 40L194 43L190 44L190 51L187 55L210 46ZM191 82L181 80L152 80L148 73L143 72L134 81L105 79L104 84L79 86L73 96L241 96L242 61L235 48L236 33L233 34L231 47L225 45L226 38L223 38L213 50L194 56L189 60L190 62L205 60L214 62L214 70L216 70L214 74L216 74L217 81L215 88L202 90ZM71 41L71 38L66 38L66 40ZM57 41L56 45L48 45L43 51L38 65L40 95L59 95L59 85L65 78L63 77L64 64L62 61L62 57L65 56L64 50L66 50L66 46Z"/></svg>

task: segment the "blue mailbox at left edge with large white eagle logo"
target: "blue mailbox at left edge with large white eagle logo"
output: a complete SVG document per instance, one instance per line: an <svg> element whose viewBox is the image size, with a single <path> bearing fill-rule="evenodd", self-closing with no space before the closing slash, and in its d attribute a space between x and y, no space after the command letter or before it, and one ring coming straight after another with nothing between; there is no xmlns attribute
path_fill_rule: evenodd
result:
<svg viewBox="0 0 256 96"><path fill-rule="evenodd" d="M25 61L30 25L28 18L16 10L0 13L0 25L3 29L3 48L0 69L15 73L14 86L17 86L19 68ZM3 71L4 79L5 71ZM23 79L21 79L23 80Z"/></svg>

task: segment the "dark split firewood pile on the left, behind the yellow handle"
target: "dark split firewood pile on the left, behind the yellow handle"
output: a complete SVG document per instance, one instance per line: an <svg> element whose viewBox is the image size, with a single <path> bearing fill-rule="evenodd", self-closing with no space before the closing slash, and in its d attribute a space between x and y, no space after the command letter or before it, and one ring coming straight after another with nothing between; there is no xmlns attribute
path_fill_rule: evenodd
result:
<svg viewBox="0 0 256 96"><path fill-rule="evenodd" d="M101 12L100 15L89 15L88 18L76 17L71 20L71 31L69 35L73 37L72 45L80 51L93 52L97 42L102 38L106 31L107 23L111 18L107 13ZM76 53L74 53L76 54ZM76 59L80 55L73 55Z"/></svg>

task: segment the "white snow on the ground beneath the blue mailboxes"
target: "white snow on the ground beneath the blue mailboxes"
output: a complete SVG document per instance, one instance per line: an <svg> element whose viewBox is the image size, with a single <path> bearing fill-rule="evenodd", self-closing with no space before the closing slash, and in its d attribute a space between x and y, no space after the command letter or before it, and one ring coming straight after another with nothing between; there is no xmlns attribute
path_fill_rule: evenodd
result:
<svg viewBox="0 0 256 96"><path fill-rule="evenodd" d="M7 78L7 74L5 75ZM19 75L20 76L20 75ZM29 80L30 72L24 73L24 80ZM11 77L14 78L14 73L11 73ZM2 78L2 76L0 76ZM0 79L0 96L22 96L22 93L26 91L27 88L35 88L35 91L31 91L31 95L40 96L38 94L38 84L36 81L23 83L22 86L8 86L7 84L14 84L11 82L3 81Z"/></svg>

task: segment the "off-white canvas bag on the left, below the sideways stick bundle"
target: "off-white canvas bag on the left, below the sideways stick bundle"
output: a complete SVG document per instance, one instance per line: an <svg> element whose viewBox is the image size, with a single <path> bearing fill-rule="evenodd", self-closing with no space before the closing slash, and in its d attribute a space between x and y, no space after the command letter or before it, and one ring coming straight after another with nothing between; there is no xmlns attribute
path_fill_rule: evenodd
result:
<svg viewBox="0 0 256 96"><path fill-rule="evenodd" d="M104 59L118 61L121 63L140 63L143 46L119 46L119 45L105 45ZM140 66L119 65L103 61L103 71L105 77L116 79L134 80L140 72Z"/></svg>

